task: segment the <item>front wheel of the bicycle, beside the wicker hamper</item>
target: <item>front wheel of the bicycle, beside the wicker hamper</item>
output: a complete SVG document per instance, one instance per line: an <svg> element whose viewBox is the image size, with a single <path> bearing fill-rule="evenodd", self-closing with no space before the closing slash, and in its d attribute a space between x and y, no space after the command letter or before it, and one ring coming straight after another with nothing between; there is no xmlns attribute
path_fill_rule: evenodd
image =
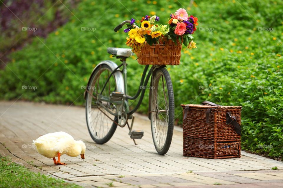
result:
<svg viewBox="0 0 283 188"><path fill-rule="evenodd" d="M165 68L152 74L150 119L156 151L164 155L169 150L174 129L174 92L172 81Z"/></svg>

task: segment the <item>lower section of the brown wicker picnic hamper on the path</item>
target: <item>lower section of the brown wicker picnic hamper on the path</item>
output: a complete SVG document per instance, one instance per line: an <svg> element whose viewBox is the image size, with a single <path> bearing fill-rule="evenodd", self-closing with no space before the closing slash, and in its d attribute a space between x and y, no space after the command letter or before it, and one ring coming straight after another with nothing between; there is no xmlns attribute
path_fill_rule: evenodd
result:
<svg viewBox="0 0 283 188"><path fill-rule="evenodd" d="M183 155L210 159L225 159L241 157L241 142L217 142L190 137L184 137Z"/></svg>

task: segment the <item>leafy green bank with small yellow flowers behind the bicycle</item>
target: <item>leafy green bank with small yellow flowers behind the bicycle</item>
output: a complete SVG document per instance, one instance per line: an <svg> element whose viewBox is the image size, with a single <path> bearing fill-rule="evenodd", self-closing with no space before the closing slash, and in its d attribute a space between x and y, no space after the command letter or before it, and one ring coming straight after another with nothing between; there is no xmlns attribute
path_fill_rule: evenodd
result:
<svg viewBox="0 0 283 188"><path fill-rule="evenodd" d="M283 155L283 89L281 1L90 1L73 11L71 21L47 38L11 54L13 62L0 71L0 98L75 103L83 105L84 90L95 65L109 57L107 47L124 47L127 34L113 29L126 19L160 16L166 24L180 7L198 17L196 49L182 50L179 66L167 66L175 94L175 116L180 104L210 100L220 105L241 105L244 150L274 158ZM152 13L153 14L153 13ZM134 16L133 16L134 15ZM44 17L43 17L44 18ZM43 19L42 18L42 19ZM81 27L96 28L82 31ZM270 31L272 28L272 31ZM129 95L138 89L144 66L128 61ZM23 85L36 90L23 90ZM130 101L135 106L136 101ZM148 91L139 112L147 113ZM272 147L259 147L259 145Z"/></svg>

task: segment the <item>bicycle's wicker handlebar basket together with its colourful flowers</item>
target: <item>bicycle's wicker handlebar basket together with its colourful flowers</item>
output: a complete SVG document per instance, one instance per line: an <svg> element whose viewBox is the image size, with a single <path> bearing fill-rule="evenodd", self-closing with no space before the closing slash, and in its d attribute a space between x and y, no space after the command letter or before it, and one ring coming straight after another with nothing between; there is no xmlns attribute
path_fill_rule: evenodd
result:
<svg viewBox="0 0 283 188"><path fill-rule="evenodd" d="M168 24L157 24L158 16L144 16L138 26L135 19L124 29L128 33L126 45L137 54L142 65L179 65L182 43L189 49L196 48L192 40L198 18L188 16L185 9L170 15Z"/></svg>

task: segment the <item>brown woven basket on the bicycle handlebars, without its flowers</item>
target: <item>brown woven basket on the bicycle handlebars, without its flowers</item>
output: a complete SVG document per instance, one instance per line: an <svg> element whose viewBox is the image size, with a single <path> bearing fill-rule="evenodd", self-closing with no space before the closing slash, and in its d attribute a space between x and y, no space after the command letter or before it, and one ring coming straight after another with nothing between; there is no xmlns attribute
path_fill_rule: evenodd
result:
<svg viewBox="0 0 283 188"><path fill-rule="evenodd" d="M183 40L182 40L183 42ZM162 37L159 44L145 44L137 54L138 63L141 65L179 65L182 43L177 44L172 40Z"/></svg>

